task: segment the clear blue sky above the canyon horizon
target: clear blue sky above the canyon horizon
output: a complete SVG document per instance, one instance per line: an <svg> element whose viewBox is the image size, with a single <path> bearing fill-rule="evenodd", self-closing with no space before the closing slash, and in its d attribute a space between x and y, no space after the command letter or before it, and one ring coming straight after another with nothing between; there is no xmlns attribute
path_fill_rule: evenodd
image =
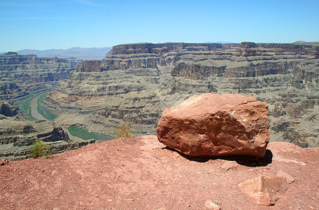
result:
<svg viewBox="0 0 319 210"><path fill-rule="evenodd" d="M318 8L318 0L0 0L0 52L141 42L319 41Z"/></svg>

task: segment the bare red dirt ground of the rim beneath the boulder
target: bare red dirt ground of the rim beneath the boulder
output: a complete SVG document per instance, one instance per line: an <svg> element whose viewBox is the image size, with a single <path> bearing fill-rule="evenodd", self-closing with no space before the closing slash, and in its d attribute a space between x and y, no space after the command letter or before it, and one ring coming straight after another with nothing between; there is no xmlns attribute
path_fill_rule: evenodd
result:
<svg viewBox="0 0 319 210"><path fill-rule="evenodd" d="M220 209L319 209L318 163L319 148L285 142L271 142L263 159L190 158L155 136L120 138L2 162L0 209L207 209L208 201ZM255 204L238 187L279 171L295 181L274 206Z"/></svg>

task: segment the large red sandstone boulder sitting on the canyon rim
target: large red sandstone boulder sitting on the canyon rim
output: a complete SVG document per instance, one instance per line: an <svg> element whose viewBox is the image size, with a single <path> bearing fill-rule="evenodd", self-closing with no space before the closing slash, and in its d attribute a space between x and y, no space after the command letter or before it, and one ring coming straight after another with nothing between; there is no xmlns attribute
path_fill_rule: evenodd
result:
<svg viewBox="0 0 319 210"><path fill-rule="evenodd" d="M166 109L157 138L192 156L264 157L269 143L266 103L236 94L201 94Z"/></svg>

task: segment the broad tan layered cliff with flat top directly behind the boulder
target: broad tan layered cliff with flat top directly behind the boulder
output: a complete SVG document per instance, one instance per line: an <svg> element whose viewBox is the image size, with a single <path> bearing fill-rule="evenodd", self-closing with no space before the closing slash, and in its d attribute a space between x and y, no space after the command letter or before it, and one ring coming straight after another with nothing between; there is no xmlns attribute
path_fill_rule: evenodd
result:
<svg viewBox="0 0 319 210"><path fill-rule="evenodd" d="M127 122L155 134L162 111L194 94L243 94L269 104L271 141L319 146L318 55L310 44L118 45L101 61L80 62L45 103L66 125L113 134Z"/></svg>

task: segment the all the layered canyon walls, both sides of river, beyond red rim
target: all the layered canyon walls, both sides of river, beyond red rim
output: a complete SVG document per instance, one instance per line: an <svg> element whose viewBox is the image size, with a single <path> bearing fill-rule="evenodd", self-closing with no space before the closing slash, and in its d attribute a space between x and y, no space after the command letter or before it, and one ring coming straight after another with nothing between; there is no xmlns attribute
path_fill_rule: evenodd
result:
<svg viewBox="0 0 319 210"><path fill-rule="evenodd" d="M166 108L207 92L266 102L270 141L319 146L318 48L319 43L134 43L82 62L7 52L0 55L0 156L28 158L41 132L55 135L46 141L55 153L94 142L70 140L64 128L69 126L113 136L125 123L135 136L156 134ZM48 94L41 106L57 114L54 124L30 121L22 111L22 102L42 92Z"/></svg>

